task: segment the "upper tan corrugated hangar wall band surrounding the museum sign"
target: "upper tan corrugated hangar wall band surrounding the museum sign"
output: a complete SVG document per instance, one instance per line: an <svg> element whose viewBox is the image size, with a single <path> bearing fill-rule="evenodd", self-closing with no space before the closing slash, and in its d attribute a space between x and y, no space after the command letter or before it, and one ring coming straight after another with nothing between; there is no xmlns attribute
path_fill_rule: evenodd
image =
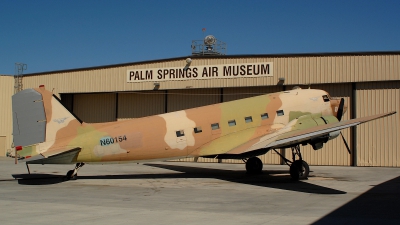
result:
<svg viewBox="0 0 400 225"><path fill-rule="evenodd" d="M400 55L334 55L246 58L193 58L191 66L273 62L273 77L160 81L160 90L215 87L274 86L279 77L286 85L398 80ZM24 88L46 85L54 93L88 93L153 90L153 82L128 83L127 70L184 67L185 60L151 62L131 66L86 69L25 76Z"/></svg>

